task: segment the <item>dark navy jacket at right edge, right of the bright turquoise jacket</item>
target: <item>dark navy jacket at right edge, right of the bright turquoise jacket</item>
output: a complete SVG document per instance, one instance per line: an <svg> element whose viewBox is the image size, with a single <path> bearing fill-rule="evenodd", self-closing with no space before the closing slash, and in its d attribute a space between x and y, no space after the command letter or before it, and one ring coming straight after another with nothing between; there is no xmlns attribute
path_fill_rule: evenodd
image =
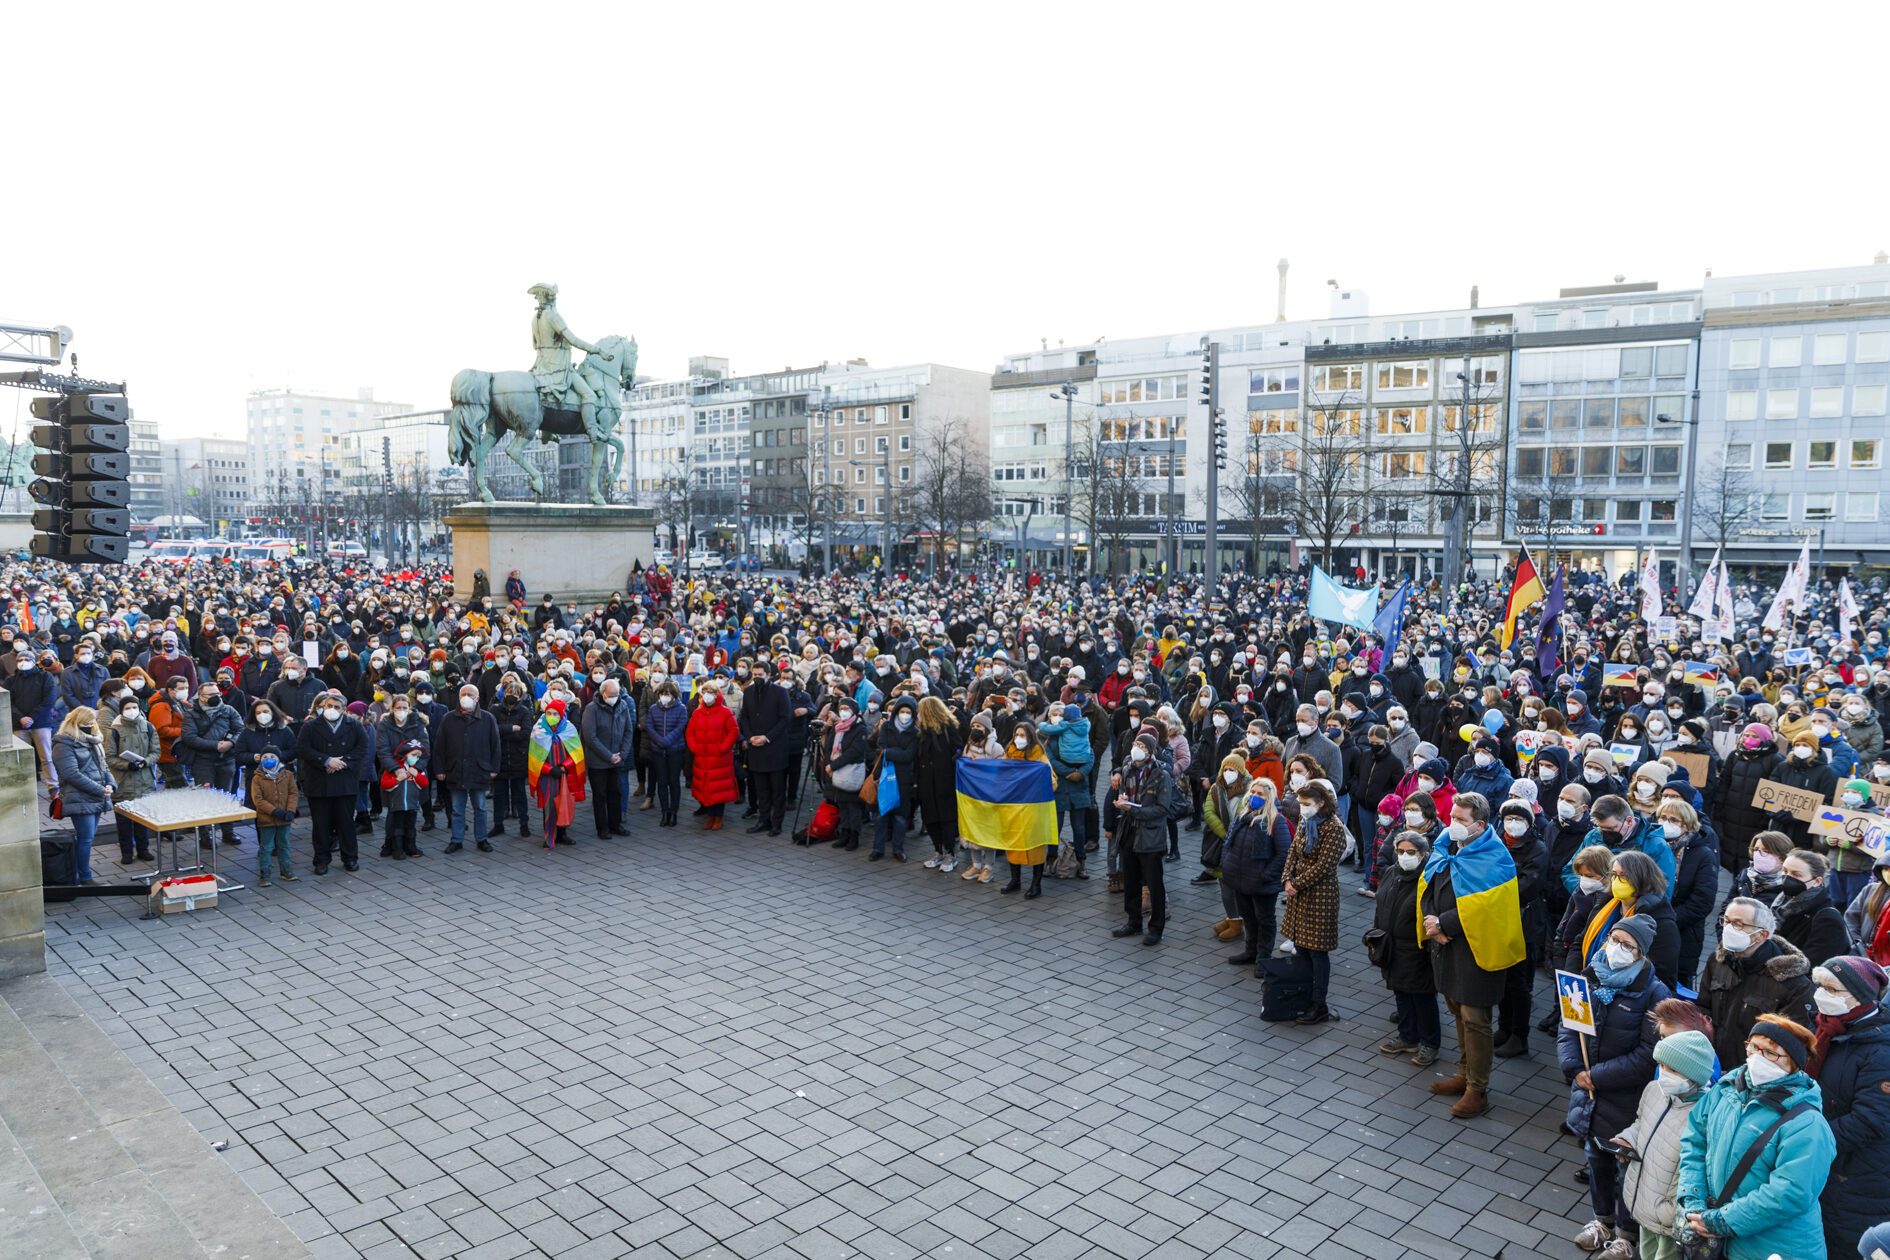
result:
<svg viewBox="0 0 1890 1260"><path fill-rule="evenodd" d="M1890 1011L1877 1007L1831 1037L1818 1065L1824 1118L1837 1158L1824 1184L1824 1224L1858 1237L1890 1220Z"/></svg>

